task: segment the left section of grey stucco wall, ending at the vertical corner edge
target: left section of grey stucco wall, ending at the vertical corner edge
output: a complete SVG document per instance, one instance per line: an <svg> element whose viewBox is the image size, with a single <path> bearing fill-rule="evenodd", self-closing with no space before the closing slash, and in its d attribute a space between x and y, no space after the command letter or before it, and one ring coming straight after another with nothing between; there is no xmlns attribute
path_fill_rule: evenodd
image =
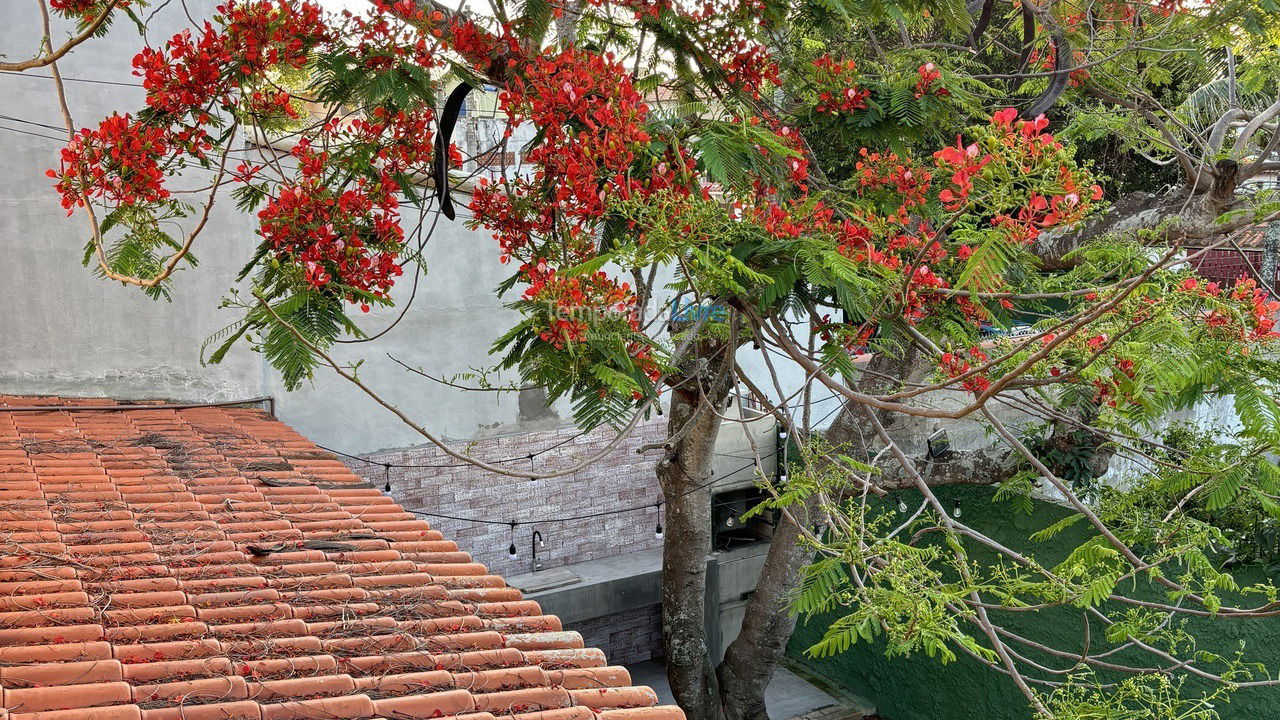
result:
<svg viewBox="0 0 1280 720"><path fill-rule="evenodd" d="M211 1L200 0L195 9ZM178 29L180 4L157 14L152 37ZM182 19L186 24L186 19ZM60 63L68 78L133 83L129 63L137 29L120 19L109 36L82 45ZM64 24L65 27L65 24ZM0 47L8 59L32 53L41 31L35 4L6 4ZM55 32L55 38L60 37ZM3 113L61 126L47 69L0 74ZM78 126L96 126L111 110L138 108L141 87L67 82ZM201 368L201 341L228 322L216 311L236 263L253 246L246 220L230 202L215 206L210 233L197 247L204 263L178 274L174 301L154 302L136 288L106 283L81 266L88 238L83 213L59 205L45 170L58 167L64 141L13 132L61 136L56 129L0 120L0 392L114 395L228 400L259 395L261 369L250 354ZM192 184L207 174L192 174Z"/></svg>

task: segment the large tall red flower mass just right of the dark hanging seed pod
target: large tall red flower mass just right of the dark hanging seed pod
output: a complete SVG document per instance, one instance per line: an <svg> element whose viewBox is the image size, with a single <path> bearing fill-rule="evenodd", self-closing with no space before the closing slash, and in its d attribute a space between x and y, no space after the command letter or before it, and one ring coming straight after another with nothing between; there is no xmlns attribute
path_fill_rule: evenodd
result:
<svg viewBox="0 0 1280 720"><path fill-rule="evenodd" d="M541 132L526 156L536 170L499 183L481 178L471 210L476 224L494 232L503 261L524 260L524 300L554 310L538 318L540 338L557 348L582 342L590 323L605 315L625 318L636 331L636 299L627 283L604 273L570 275L563 266L595 256L595 232L611 200L684 187L678 178L691 173L694 159L668 151L664 161L632 174L649 146L648 108L612 56L570 47L532 59L499 100L513 123L531 120ZM635 345L630 354L657 377L646 347Z"/></svg>

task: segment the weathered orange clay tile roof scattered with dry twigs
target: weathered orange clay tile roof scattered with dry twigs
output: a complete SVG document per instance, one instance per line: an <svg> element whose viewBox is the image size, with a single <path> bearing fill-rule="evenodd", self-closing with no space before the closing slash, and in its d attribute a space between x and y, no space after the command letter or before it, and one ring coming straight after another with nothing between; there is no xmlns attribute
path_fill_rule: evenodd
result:
<svg viewBox="0 0 1280 720"><path fill-rule="evenodd" d="M630 685L262 411L0 410L0 719L684 720Z"/></svg>

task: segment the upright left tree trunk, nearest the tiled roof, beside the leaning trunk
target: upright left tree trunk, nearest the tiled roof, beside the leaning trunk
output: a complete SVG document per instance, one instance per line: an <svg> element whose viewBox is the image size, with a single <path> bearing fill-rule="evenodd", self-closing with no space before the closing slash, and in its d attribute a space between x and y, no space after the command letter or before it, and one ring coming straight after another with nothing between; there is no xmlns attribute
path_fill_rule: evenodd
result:
<svg viewBox="0 0 1280 720"><path fill-rule="evenodd" d="M667 498L662 546L662 644L672 693L690 720L723 717L707 644L707 556L712 550L712 488L708 483L719 433L714 407L723 402L730 383L724 373L713 372L712 375L707 393L698 387L672 392L667 427L668 437L675 439L657 469Z"/></svg>

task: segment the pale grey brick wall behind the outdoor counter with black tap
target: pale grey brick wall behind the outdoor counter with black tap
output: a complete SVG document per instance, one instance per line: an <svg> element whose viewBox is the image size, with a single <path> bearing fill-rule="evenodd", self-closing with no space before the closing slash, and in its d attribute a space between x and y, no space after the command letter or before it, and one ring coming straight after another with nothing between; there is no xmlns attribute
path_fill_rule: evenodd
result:
<svg viewBox="0 0 1280 720"><path fill-rule="evenodd" d="M550 470L566 468L602 450L613 437L611 428L598 428L576 437L577 428L539 430L476 441L466 446L475 457L498 460L521 457L504 466L529 469L524 455L547 452L532 460L532 468ZM641 423L603 460L567 477L530 482L511 478L474 465L458 466L435 446L378 452L369 456L375 462L406 465L444 465L438 468L392 468L392 496L410 510L477 518L502 524L480 524L447 518L424 516L444 537L470 552L502 575L518 575L532 570L530 543L534 530L543 536L538 560L543 568L557 568L585 560L598 560L625 552L649 550L662 544L654 538L660 493L653 471L658 451L637 454L636 448L666 437L664 418ZM573 438L573 439L570 439ZM564 442L568 441L568 442ZM558 443L559 447L554 447ZM460 448L462 446L458 446ZM381 487L387 470L360 460L347 460L356 473ZM548 518L566 518L607 512L623 507L644 506L623 514L580 519L563 523L538 523ZM518 552L511 560L507 548L512 542L511 527L518 523L515 542Z"/></svg>

